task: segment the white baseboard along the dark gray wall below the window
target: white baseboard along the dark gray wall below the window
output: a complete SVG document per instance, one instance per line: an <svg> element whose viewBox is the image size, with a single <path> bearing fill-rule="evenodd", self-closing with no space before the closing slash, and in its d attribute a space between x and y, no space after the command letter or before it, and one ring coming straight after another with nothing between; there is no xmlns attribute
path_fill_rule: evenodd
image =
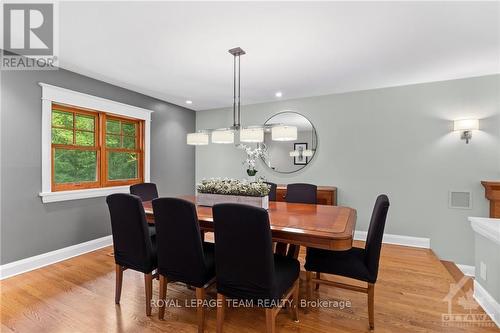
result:
<svg viewBox="0 0 500 333"><path fill-rule="evenodd" d="M111 244L113 244L113 238L110 235L93 239L88 242L68 246L59 250L43 253L34 257L13 261L0 266L0 280L21 273L29 272L40 267L55 264L56 262L76 257L87 252L95 251Z"/></svg>

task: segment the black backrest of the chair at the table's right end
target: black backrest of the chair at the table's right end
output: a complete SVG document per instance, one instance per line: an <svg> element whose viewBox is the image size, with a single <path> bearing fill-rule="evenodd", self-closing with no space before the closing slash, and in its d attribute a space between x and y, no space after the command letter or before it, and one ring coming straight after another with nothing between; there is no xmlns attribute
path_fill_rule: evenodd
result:
<svg viewBox="0 0 500 333"><path fill-rule="evenodd" d="M365 245L365 264L370 273L377 278L378 264L380 260L380 250L382 248L382 238L384 236L385 220L387 211L389 210L389 198L385 194L377 197L375 206L373 207L370 227L366 236Z"/></svg>

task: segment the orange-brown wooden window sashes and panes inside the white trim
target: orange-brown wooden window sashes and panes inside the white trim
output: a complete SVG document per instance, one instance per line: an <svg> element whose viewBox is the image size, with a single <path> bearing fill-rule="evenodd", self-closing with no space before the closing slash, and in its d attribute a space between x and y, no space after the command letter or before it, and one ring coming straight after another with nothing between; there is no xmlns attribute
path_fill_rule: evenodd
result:
<svg viewBox="0 0 500 333"><path fill-rule="evenodd" d="M52 191L140 183L144 121L52 103Z"/></svg>

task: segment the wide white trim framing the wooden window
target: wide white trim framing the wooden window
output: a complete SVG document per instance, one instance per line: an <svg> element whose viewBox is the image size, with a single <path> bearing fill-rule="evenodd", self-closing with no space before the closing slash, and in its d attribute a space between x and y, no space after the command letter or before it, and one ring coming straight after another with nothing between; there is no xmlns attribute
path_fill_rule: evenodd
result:
<svg viewBox="0 0 500 333"><path fill-rule="evenodd" d="M150 181L151 113L153 111L39 82L42 87L42 191L43 203L129 193L129 186L52 191L52 103L68 104L108 114L144 120L144 181Z"/></svg>

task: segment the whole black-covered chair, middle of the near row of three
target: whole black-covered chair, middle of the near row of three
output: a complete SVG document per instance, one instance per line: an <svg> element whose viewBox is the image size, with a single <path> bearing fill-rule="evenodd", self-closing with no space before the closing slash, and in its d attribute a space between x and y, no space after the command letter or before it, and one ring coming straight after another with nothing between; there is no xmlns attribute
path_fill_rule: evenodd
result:
<svg viewBox="0 0 500 333"><path fill-rule="evenodd" d="M153 200L158 242L158 274L160 276L160 309L165 314L168 282L183 282L196 288L198 332L203 332L206 288L215 281L215 248L201 239L196 207L177 198Z"/></svg>

